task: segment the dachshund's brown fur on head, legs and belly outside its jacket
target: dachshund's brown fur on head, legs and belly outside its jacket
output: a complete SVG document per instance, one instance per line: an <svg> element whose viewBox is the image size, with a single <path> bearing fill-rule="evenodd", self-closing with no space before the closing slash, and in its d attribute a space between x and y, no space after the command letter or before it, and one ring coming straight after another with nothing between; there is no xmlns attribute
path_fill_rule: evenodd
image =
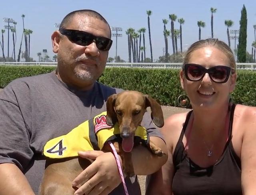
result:
<svg viewBox="0 0 256 195"><path fill-rule="evenodd" d="M106 102L107 116L106 122L113 126L116 122L120 126L122 138L134 136L136 128L140 125L146 108L151 107L151 118L158 127L164 125L164 118L161 106L148 95L143 95L137 91L124 91L110 96ZM124 152L121 144L114 142L114 146L123 159L123 169L128 175L134 175L132 156L130 152ZM162 156L163 152L152 141L150 148L153 154ZM103 151L111 151L108 144L104 145ZM72 181L79 175L91 160L82 158L72 158L63 160L47 160L44 177L40 186L40 195L73 195L74 189L71 187Z"/></svg>

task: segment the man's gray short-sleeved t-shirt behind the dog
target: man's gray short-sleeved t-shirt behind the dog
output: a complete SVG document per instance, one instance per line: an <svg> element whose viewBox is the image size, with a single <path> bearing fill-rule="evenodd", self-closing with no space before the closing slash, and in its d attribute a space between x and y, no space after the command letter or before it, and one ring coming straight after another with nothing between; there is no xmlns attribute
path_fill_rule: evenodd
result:
<svg viewBox="0 0 256 195"><path fill-rule="evenodd" d="M46 142L106 111L107 98L121 91L98 82L89 91L78 91L59 81L54 72L12 81L0 93L0 163L15 163L37 194ZM150 136L161 137L149 113L142 126ZM130 194L140 195L137 177L126 178L126 185ZM123 192L119 185L110 194Z"/></svg>

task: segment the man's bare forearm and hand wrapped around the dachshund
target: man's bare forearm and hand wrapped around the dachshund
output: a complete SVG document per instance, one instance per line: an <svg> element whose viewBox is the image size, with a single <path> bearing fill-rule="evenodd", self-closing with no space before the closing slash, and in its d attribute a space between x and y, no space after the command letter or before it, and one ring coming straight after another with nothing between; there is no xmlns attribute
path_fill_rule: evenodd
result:
<svg viewBox="0 0 256 195"><path fill-rule="evenodd" d="M150 137L150 139L166 155L158 157L152 154L146 147L135 147L132 150L132 163L136 175L154 173L160 169L168 158L164 140L154 136ZM83 195L84 193L88 195L107 195L120 184L121 179L116 160L111 152L87 151L80 152L79 155L83 158L95 159L95 161L74 179L72 185L79 186L75 195ZM119 159L121 161L120 156ZM81 183L84 184L80 186Z"/></svg>

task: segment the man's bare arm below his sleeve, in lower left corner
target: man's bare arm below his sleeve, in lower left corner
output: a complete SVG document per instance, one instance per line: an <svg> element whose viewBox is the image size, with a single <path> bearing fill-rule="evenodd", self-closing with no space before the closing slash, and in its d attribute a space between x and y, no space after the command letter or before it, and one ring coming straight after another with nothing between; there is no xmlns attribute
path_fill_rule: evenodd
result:
<svg viewBox="0 0 256 195"><path fill-rule="evenodd" d="M35 195L28 180L13 163L0 164L0 195Z"/></svg>

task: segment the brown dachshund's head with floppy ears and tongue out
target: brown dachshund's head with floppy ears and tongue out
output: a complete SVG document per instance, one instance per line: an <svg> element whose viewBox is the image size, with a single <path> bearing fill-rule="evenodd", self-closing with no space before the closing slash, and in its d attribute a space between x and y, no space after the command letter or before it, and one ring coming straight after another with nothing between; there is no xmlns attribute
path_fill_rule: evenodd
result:
<svg viewBox="0 0 256 195"><path fill-rule="evenodd" d="M136 128L140 125L146 108L151 108L151 118L158 127L164 125L164 117L161 106L148 95L138 91L124 91L111 95L106 103L106 123L113 126L119 123L122 137L122 148L130 152L133 147L133 137Z"/></svg>

